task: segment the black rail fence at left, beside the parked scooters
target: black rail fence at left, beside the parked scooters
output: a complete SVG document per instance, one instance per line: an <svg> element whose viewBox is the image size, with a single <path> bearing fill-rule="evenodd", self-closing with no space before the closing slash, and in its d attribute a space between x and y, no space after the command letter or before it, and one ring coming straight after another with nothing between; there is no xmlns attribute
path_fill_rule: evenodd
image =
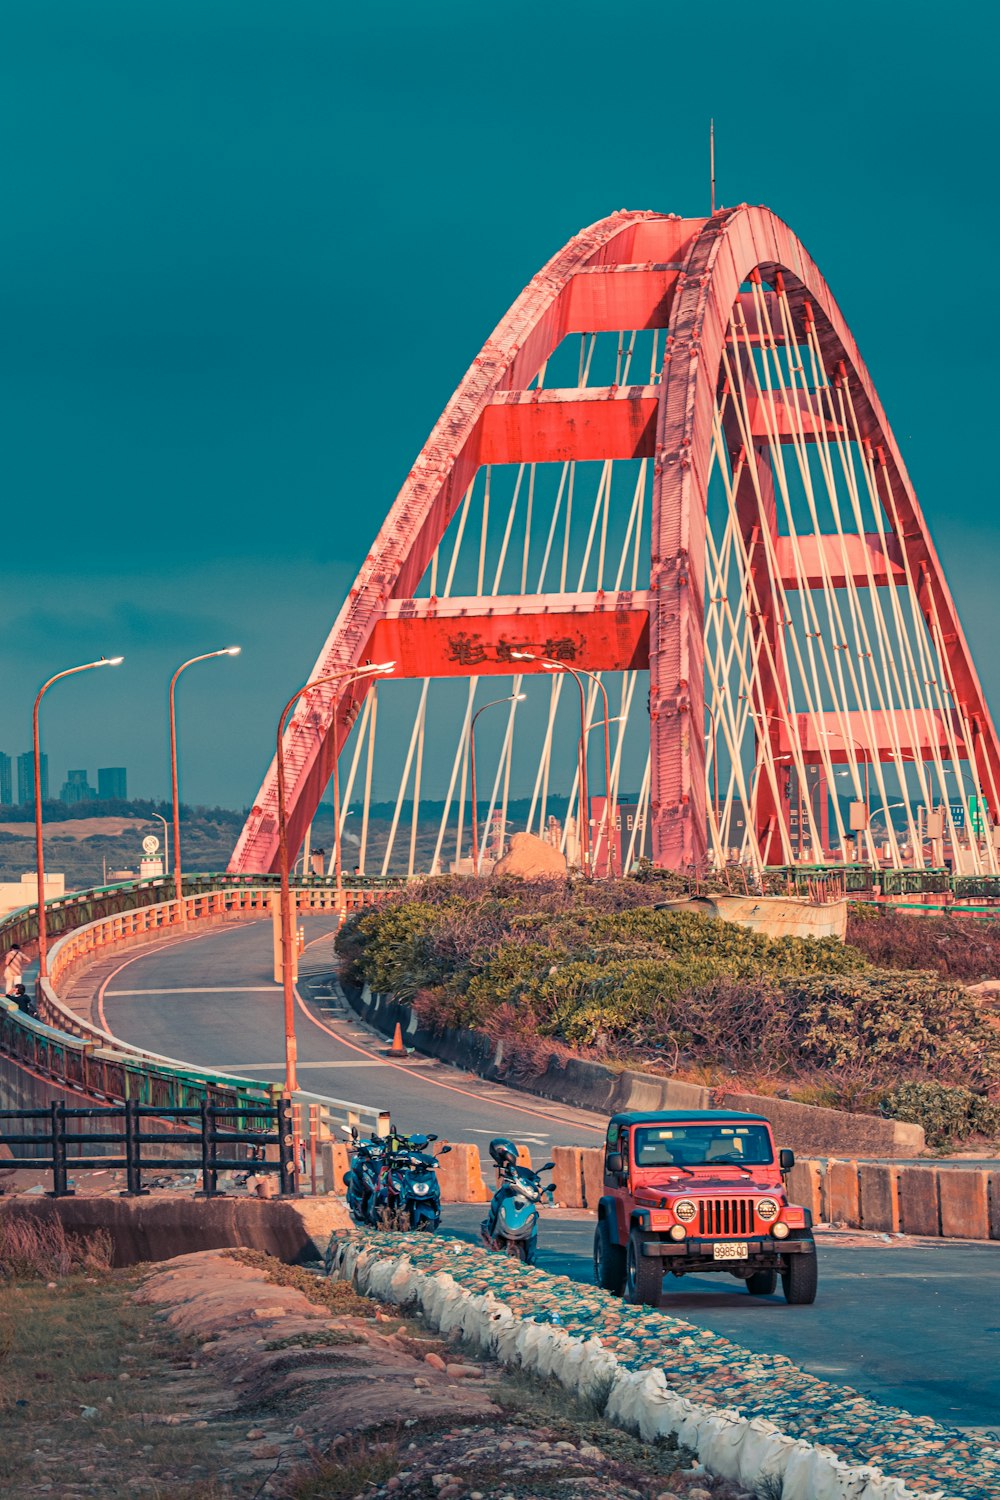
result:
<svg viewBox="0 0 1000 1500"><path fill-rule="evenodd" d="M114 1128L117 1122L120 1128ZM93 1124L103 1130L87 1128ZM154 1128L144 1128L150 1122ZM229 1122L229 1124L226 1124ZM174 1130L166 1125L174 1124ZM30 1126L27 1130L18 1126ZM159 1128L157 1128L159 1126ZM153 1170L201 1172L199 1196L219 1192L220 1172L277 1173L277 1190L298 1186L292 1101L282 1095L261 1104L247 1119L246 1104L210 1104L162 1108L129 1100L126 1104L69 1108L54 1101L46 1110L0 1110L0 1144L12 1150L4 1167L33 1167L52 1173L51 1197L72 1197L69 1172L124 1168L123 1197L142 1197L142 1174ZM108 1150L96 1154L94 1146ZM33 1155L15 1155L15 1148ZM169 1155L163 1154L171 1146Z"/></svg>

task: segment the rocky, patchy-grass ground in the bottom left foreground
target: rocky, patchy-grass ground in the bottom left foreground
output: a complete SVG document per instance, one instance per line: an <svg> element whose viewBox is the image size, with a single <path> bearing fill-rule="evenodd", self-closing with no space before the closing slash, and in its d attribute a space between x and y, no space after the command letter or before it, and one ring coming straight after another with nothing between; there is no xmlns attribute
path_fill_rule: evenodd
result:
<svg viewBox="0 0 1000 1500"><path fill-rule="evenodd" d="M252 1251L0 1282L0 1431L10 1500L742 1496L561 1388Z"/></svg>

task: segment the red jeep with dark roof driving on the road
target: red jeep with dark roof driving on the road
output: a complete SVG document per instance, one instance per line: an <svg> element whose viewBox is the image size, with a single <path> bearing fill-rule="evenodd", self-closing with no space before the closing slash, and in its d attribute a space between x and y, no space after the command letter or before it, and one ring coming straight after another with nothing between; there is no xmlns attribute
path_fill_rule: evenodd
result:
<svg viewBox="0 0 1000 1500"><path fill-rule="evenodd" d="M615 1114L604 1144L594 1280L628 1302L657 1306L667 1270L727 1270L766 1298L778 1275L786 1302L816 1300L813 1215L789 1203L762 1114L660 1110Z"/></svg>

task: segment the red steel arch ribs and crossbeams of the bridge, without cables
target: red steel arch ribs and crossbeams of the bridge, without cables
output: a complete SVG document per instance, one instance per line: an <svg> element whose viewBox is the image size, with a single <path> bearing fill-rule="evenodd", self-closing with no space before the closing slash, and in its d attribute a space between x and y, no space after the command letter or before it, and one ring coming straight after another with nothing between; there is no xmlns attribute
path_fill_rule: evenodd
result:
<svg viewBox="0 0 1000 1500"><path fill-rule="evenodd" d="M666 333L658 384L529 388L568 334L651 328ZM781 351L787 357L798 344L816 357L813 380L765 380L760 362ZM847 444L862 454L885 526L787 534L775 490L783 453L802 456L813 447L822 459ZM484 465L637 458L654 468L645 590L415 597ZM721 722L718 705L706 704L706 610L721 608L706 596L720 566L706 561L706 546L714 555L706 518L720 470L732 489L733 546L742 558L738 603L753 626L751 680L732 698L745 699L744 716L756 724L757 784L745 801L765 862L778 862L783 848L787 855L780 760L795 759L801 774L822 762L829 774L834 764L862 759L964 759L996 822L1000 742L895 438L826 282L792 230L763 207L742 204L709 219L616 213L553 256L448 402L312 676L385 658L397 662L396 676L409 678L531 674L540 666L511 666L511 651L546 656L567 639L576 664L589 670L648 668L652 856L667 867L700 861L712 813L706 712L717 735ZM789 596L903 588L913 591L942 657L939 708L864 706L846 698L819 706L817 696L802 712L801 694L792 702ZM858 639L865 628L856 615ZM819 636L819 627L805 634ZM871 656L870 645L867 652L855 648L853 640L856 656ZM837 640L832 650L849 644ZM801 672L808 675L805 666ZM339 700L334 688L316 688L291 718L291 848L303 842L369 687L355 682ZM712 753L718 758L718 746ZM268 872L276 860L271 764L229 868Z"/></svg>

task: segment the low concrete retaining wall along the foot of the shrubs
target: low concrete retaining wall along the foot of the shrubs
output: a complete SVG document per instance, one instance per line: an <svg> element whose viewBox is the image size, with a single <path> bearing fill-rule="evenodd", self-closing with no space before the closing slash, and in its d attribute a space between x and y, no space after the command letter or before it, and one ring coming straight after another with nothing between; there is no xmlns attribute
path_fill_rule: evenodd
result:
<svg viewBox="0 0 1000 1500"><path fill-rule="evenodd" d="M420 1026L409 1005L400 1005L391 994L372 994L367 986L348 992L348 999L384 1035L391 1036L399 1022L406 1042L418 1052L478 1072L483 1078L508 1082L502 1040L493 1042L483 1032L457 1028L430 1032ZM528 1082L519 1078L519 1086L598 1114L615 1114L618 1110L745 1110L771 1120L780 1137L778 1144L810 1156L919 1156L925 1149L922 1128L903 1120L822 1110L757 1094L705 1089L661 1074L627 1068L616 1071L583 1058L553 1056L544 1072Z"/></svg>

